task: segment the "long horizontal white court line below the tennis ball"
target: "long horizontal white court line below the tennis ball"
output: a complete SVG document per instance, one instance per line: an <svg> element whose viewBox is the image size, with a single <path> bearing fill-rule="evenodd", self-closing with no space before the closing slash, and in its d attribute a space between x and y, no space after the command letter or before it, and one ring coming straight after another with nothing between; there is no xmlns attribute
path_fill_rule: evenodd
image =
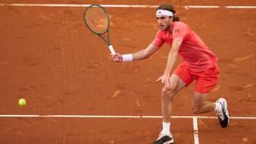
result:
<svg viewBox="0 0 256 144"><path fill-rule="evenodd" d="M121 116L121 115L47 115L47 114L1 114L0 118L162 118L161 116ZM208 116L172 116L172 118L206 118ZM256 119L256 117L230 117L231 119Z"/></svg>

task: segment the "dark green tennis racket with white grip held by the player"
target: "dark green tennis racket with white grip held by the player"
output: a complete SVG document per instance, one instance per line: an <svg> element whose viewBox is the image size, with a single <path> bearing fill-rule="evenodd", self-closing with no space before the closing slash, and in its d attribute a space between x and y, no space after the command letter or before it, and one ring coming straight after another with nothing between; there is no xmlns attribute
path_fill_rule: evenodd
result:
<svg viewBox="0 0 256 144"><path fill-rule="evenodd" d="M109 40L110 23L107 10L98 4L90 5L84 11L84 22L90 32L95 33L108 44L108 49L110 50L111 54L115 54L113 46ZM107 37L104 37L104 34L106 33Z"/></svg>

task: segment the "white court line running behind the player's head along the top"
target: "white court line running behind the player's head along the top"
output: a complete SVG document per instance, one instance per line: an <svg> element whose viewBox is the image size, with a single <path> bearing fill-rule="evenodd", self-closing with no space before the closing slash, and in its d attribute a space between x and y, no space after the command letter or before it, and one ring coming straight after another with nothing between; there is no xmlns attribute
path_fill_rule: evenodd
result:
<svg viewBox="0 0 256 144"><path fill-rule="evenodd" d="M58 4L58 3L0 3L0 6L12 7L88 7L90 4ZM124 5L124 4L102 4L103 7L108 8L157 8L158 5ZM256 9L256 6L237 5L237 6L218 6L218 5L184 5L177 6L177 8L184 9Z"/></svg>

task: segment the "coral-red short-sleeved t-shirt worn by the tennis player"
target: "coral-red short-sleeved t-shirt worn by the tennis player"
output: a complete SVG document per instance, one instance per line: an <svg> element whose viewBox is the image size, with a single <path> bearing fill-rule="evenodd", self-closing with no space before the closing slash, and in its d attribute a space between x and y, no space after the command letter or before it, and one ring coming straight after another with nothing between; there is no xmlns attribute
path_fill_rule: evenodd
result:
<svg viewBox="0 0 256 144"><path fill-rule="evenodd" d="M189 26L181 21L173 21L171 28L172 32L159 30L152 43L157 47L164 43L172 46L173 39L182 40L178 54L191 72L202 72L215 66L218 58Z"/></svg>

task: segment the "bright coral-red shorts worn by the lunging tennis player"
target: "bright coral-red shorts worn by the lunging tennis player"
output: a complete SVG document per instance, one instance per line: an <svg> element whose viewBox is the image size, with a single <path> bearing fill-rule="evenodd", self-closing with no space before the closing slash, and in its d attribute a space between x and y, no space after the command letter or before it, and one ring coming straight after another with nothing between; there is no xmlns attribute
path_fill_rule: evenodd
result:
<svg viewBox="0 0 256 144"><path fill-rule="evenodd" d="M188 66L182 62L173 72L189 86L195 80L195 91L201 94L208 93L218 84L218 65L214 65L203 72L191 72Z"/></svg>

